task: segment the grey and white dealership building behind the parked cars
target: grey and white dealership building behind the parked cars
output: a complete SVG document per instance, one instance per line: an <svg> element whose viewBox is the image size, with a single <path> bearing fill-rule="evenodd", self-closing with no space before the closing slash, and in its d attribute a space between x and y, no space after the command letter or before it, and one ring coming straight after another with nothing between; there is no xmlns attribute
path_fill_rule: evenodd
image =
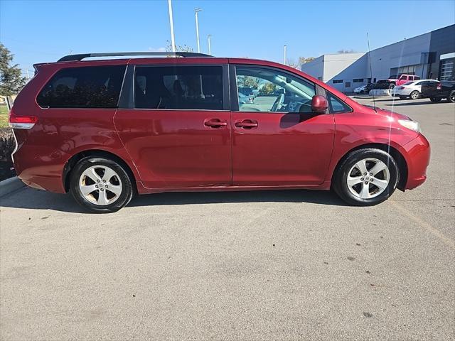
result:
<svg viewBox="0 0 455 341"><path fill-rule="evenodd" d="M321 55L301 70L342 92L353 92L360 85L402 73L455 80L454 64L455 25L451 25L370 53Z"/></svg>

